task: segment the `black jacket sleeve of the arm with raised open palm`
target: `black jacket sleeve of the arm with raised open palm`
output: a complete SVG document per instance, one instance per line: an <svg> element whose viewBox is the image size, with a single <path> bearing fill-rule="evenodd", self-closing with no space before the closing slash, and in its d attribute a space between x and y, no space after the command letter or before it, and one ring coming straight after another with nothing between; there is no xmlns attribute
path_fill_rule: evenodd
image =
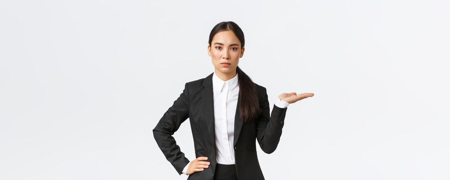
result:
<svg viewBox="0 0 450 180"><path fill-rule="evenodd" d="M280 141L281 132L284 125L284 117L286 115L286 108L278 107L274 104L272 113L269 116L269 102L267 99L267 89L263 88L263 93L260 98L261 114L257 119L257 140L262 151L270 154L277 149Z"/></svg>

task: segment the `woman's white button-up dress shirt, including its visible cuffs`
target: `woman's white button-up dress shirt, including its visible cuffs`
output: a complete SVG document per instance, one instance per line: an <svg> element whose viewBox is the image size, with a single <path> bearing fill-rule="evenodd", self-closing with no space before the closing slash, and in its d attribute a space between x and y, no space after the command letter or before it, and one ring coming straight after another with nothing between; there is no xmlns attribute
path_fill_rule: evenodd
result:
<svg viewBox="0 0 450 180"><path fill-rule="evenodd" d="M233 140L235 137L235 114L239 95L238 74L228 81L223 81L214 73L212 86L216 160L218 164L232 165L235 164ZM289 103L277 98L275 105L285 108ZM184 174L186 174L189 164L183 169Z"/></svg>

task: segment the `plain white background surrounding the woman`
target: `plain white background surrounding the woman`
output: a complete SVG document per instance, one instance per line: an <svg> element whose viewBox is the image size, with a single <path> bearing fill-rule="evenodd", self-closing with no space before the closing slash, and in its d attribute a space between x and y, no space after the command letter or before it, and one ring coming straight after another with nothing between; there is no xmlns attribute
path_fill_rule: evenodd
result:
<svg viewBox="0 0 450 180"><path fill-rule="evenodd" d="M450 179L448 1L1 1L0 179L186 179L152 129L214 67L236 22L240 67L288 107L266 179ZM195 157L189 120L174 135Z"/></svg>

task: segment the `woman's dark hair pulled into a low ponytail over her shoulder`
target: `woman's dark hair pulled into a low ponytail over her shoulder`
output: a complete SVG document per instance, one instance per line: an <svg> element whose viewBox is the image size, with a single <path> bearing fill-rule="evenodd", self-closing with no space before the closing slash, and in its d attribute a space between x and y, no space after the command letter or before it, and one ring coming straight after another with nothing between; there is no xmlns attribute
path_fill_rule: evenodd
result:
<svg viewBox="0 0 450 180"><path fill-rule="evenodd" d="M211 46L212 37L214 37L216 33L226 30L231 30L235 33L236 37L241 41L242 49L245 45L244 32L242 32L242 29L232 21L221 22L215 25L212 28L211 33L209 33L208 44ZM261 113L257 87L239 66L237 66L236 71L239 74L239 115L244 122L248 122L257 118Z"/></svg>

